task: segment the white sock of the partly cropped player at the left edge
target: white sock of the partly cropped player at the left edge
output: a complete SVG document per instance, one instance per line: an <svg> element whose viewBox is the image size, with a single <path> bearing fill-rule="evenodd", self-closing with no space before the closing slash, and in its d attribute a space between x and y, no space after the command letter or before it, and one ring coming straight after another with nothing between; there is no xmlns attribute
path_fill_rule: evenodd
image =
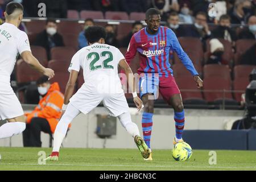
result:
<svg viewBox="0 0 256 182"><path fill-rule="evenodd" d="M26 129L26 123L24 122L9 122L0 126L0 139L13 137L18 135Z"/></svg>

